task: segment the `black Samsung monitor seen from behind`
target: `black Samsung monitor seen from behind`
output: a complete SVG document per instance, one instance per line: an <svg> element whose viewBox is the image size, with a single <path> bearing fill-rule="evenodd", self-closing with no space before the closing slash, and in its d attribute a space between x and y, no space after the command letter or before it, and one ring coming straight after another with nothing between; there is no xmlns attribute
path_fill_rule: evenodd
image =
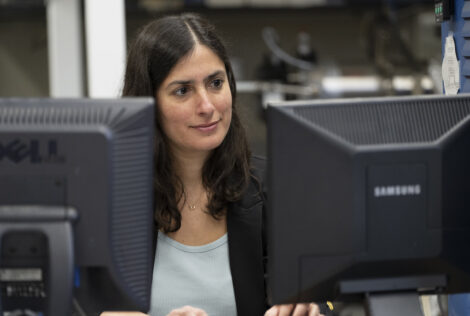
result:
<svg viewBox="0 0 470 316"><path fill-rule="evenodd" d="M268 108L273 303L470 292L470 96Z"/></svg>

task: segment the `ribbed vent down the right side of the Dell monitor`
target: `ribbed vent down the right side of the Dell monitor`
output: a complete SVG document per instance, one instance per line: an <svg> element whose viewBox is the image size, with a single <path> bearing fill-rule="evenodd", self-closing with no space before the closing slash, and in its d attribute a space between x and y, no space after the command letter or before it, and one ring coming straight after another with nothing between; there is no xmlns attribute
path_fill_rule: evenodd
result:
<svg viewBox="0 0 470 316"><path fill-rule="evenodd" d="M147 276L152 268L152 251L142 249L140 245L151 238L149 232L152 229L152 221L149 219L149 210L152 209L152 203L148 192L152 190L153 172L149 157L152 156L150 152L153 150L153 132L145 127L127 129L132 123L138 124L135 118L131 117L127 123L120 123L120 132L115 134L112 197L114 232L111 242L112 253L117 255L117 268L126 286L136 298L145 302L150 290L151 280ZM149 230L142 230L142 227L148 227ZM135 267L146 268L135 271Z"/></svg>

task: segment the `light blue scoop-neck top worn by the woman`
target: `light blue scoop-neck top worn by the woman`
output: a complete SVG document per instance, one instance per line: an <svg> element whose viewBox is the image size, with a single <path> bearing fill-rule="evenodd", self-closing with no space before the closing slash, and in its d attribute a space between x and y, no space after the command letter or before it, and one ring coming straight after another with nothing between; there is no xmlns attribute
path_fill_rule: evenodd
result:
<svg viewBox="0 0 470 316"><path fill-rule="evenodd" d="M183 245L158 232L149 314L185 305L209 316L236 316L227 234L203 246Z"/></svg>

